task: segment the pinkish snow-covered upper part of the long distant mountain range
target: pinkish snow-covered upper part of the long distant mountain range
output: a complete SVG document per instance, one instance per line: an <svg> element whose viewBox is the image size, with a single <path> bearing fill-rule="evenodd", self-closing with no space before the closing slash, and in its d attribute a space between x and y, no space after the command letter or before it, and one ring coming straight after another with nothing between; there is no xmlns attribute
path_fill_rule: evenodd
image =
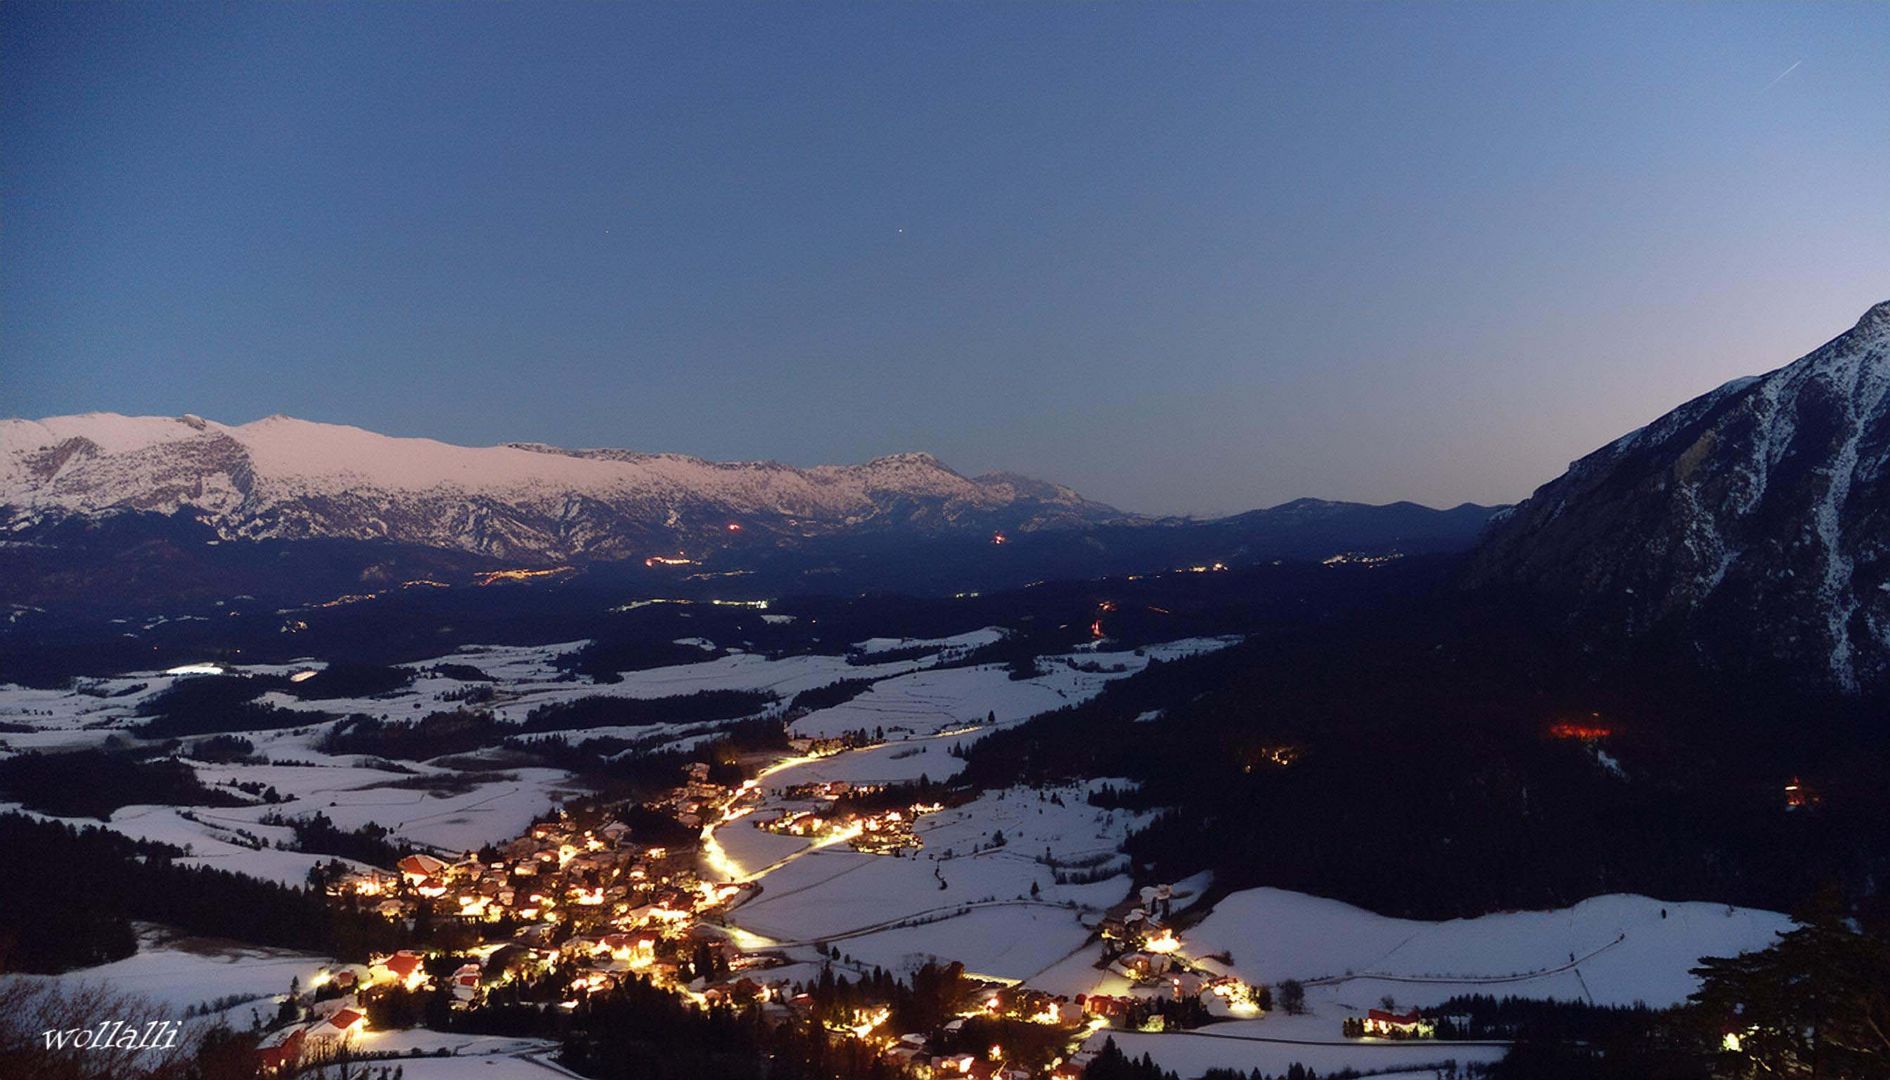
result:
<svg viewBox="0 0 1890 1080"><path fill-rule="evenodd" d="M91 412L0 422L0 528L195 511L223 539L387 539L507 560L643 558L677 543L1125 518L1070 488L962 477L930 454L796 469L680 454L454 446L270 416Z"/></svg>

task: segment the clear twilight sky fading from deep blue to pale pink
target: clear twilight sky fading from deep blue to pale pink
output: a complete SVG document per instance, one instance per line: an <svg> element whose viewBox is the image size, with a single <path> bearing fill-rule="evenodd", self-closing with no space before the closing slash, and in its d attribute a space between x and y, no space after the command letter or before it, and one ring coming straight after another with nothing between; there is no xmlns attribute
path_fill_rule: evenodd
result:
<svg viewBox="0 0 1890 1080"><path fill-rule="evenodd" d="M1510 501L1882 299L1884 4L0 6L11 416Z"/></svg>

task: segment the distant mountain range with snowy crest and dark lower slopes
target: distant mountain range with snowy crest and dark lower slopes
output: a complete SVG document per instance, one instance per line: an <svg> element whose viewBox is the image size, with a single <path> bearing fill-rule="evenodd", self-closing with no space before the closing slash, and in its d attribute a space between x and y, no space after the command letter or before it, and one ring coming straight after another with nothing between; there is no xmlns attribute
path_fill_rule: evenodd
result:
<svg viewBox="0 0 1890 1080"><path fill-rule="evenodd" d="M0 420L0 537L15 541L0 547L0 562L11 560L0 573L49 584L9 594L21 603L214 579L200 564L217 549L178 531L180 518L202 520L217 541L397 545L420 564L425 552L510 566L682 554L688 566L718 560L716 571L773 566L777 577L788 564L864 567L862 581L824 584L949 594L1217 560L1453 552L1489 514L1298 499L1202 522L1126 514L1015 473L964 477L930 454L798 469L537 443L454 446L287 416ZM1017 543L990 545L994 531ZM168 554L151 554L153 543ZM781 549L794 554L767 564Z"/></svg>

